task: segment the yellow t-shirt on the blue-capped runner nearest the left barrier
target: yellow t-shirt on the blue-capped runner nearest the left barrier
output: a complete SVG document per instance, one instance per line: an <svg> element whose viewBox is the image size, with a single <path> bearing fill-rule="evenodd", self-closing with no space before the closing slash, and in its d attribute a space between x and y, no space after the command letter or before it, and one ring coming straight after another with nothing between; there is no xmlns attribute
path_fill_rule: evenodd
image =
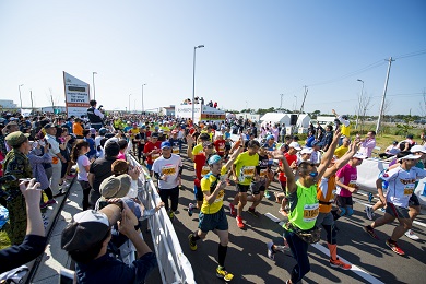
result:
<svg viewBox="0 0 426 284"><path fill-rule="evenodd" d="M227 168L225 166L222 166L221 168L221 176L225 175L227 171ZM215 177L212 173L209 173L201 179L201 190L203 192L213 192L214 189L217 186L217 177ZM201 205L201 212L204 214L214 214L221 210L223 206L223 199L225 197L225 190L222 189L216 197L216 200L213 201L212 204L209 204L209 202L203 199L203 204Z"/></svg>

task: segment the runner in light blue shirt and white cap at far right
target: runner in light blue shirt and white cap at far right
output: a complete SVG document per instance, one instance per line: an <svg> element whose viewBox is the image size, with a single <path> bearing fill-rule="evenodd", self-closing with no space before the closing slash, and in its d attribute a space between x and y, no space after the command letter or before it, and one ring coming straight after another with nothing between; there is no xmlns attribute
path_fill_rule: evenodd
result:
<svg viewBox="0 0 426 284"><path fill-rule="evenodd" d="M398 246L397 241L412 227L413 221L409 214L409 202L414 192L416 179L426 177L426 170L415 167L418 158L421 158L419 155L400 152L397 157L399 166L384 173L381 178L376 180L379 199L386 206L386 213L370 225L365 226L364 230L375 239L379 239L374 229L384 224L390 224L398 218L400 225L393 229L392 236L386 240L386 245L393 252L404 256L405 252ZM383 196L382 180L389 182L386 198Z"/></svg>

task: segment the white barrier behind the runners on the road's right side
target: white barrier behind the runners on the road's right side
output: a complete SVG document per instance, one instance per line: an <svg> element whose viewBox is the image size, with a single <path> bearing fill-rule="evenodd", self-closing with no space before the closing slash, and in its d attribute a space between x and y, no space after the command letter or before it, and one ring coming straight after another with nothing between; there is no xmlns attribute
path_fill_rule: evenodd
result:
<svg viewBox="0 0 426 284"><path fill-rule="evenodd" d="M364 159L363 164L357 167L358 179L357 184L363 190L369 191L371 193L377 193L376 180L379 177L379 174L389 167L388 162L382 162L380 159ZM426 206L426 178L418 181L417 187L414 192L418 197L418 201L422 206Z"/></svg>

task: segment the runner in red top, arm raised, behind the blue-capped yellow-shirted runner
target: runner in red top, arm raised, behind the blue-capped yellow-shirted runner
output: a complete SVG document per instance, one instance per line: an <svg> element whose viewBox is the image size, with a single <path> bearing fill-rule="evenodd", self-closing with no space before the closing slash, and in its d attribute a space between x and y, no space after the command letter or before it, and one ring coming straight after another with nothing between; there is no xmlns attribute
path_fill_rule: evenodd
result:
<svg viewBox="0 0 426 284"><path fill-rule="evenodd" d="M213 144L210 141L204 141L202 146L203 146L203 152L198 153L197 155L192 154L192 144L193 144L193 139L191 135L187 135L187 142L188 142L188 147L187 147L187 155L192 162L194 163L194 168L196 168L196 179L193 180L193 193L196 196L197 200L197 205L194 206L192 203L189 203L188 206L188 214L192 216L193 209L201 209L202 203L203 203L203 192L201 190L201 179L210 173L210 166L208 165L208 159L209 157L213 154Z"/></svg>

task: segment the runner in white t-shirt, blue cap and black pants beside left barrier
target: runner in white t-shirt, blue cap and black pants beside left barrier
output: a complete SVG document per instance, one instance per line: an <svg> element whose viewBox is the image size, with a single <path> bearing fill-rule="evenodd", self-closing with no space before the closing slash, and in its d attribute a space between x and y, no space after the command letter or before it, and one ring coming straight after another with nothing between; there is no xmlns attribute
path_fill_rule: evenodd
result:
<svg viewBox="0 0 426 284"><path fill-rule="evenodd" d="M154 161L152 169L158 184L158 194L164 202L168 216L173 220L179 203L179 186L182 173L182 159L179 155L171 154L171 144L164 141L161 144L162 156ZM168 205L170 198L171 206Z"/></svg>

